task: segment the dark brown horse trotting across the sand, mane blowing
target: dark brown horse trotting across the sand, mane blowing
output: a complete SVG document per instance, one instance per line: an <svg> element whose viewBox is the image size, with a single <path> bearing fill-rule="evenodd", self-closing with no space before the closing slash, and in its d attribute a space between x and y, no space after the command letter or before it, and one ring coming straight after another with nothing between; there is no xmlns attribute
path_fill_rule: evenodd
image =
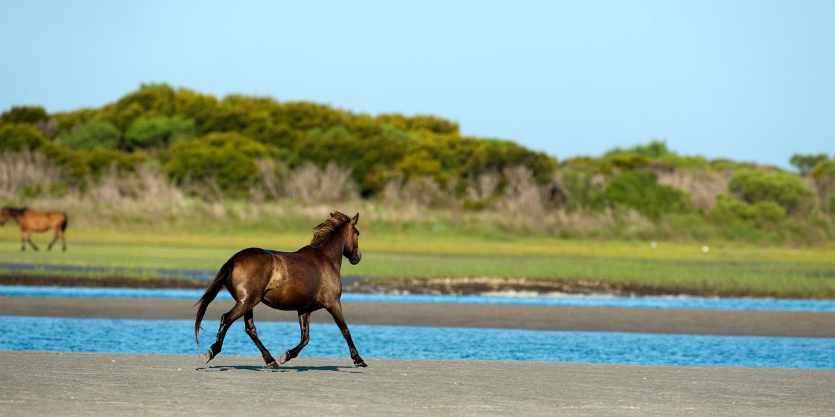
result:
<svg viewBox="0 0 835 417"><path fill-rule="evenodd" d="M258 303L264 303L273 309L296 310L299 314L301 327L301 341L293 348L286 350L278 358L278 363L295 358L310 339L310 316L318 309L326 309L333 316L337 326L342 330L342 336L351 350L351 359L355 366L366 366L354 347L351 332L342 318L342 256L353 265L362 259L357 237L357 213L352 219L347 215L336 212L314 229L311 244L296 252L277 252L269 249L249 248L232 255L220 267L215 280L205 290L195 305L197 309L195 320L195 339L200 346L200 322L203 320L206 308L215 299L220 289L229 290L235 299L235 307L220 316L220 329L217 339L203 356L208 363L220 354L223 339L229 326L241 316L245 320L246 334L255 342L264 362L269 367L276 367L276 359L261 344L256 333L252 309Z"/></svg>

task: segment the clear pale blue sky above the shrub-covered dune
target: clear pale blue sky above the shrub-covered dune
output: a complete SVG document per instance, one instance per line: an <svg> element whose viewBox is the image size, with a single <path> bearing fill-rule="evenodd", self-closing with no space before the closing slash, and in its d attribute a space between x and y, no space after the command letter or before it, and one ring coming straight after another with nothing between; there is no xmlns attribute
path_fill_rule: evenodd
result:
<svg viewBox="0 0 835 417"><path fill-rule="evenodd" d="M0 111L140 83L435 114L558 158L835 154L833 1L0 0Z"/></svg>

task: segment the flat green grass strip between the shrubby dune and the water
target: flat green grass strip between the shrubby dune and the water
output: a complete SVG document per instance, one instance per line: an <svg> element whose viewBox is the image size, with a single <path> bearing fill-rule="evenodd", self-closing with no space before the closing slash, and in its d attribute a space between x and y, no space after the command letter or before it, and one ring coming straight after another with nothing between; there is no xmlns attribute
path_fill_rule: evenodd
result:
<svg viewBox="0 0 835 417"><path fill-rule="evenodd" d="M372 229L372 228L369 228ZM372 229L374 230L374 229ZM309 233L234 235L158 234L73 229L68 252L46 252L47 234L36 235L39 252L19 251L17 228L0 229L3 264L68 264L104 269L218 269L236 251L250 246L295 250ZM362 263L343 263L342 274L377 279L526 278L628 283L684 294L835 298L832 247L757 247L660 242L595 242L548 238L498 239L465 235L374 234L363 231Z"/></svg>

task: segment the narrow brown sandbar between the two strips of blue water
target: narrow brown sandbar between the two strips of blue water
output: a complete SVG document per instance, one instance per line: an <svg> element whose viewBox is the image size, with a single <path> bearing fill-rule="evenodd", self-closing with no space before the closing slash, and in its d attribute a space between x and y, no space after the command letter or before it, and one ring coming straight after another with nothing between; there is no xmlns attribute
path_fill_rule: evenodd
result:
<svg viewBox="0 0 835 417"><path fill-rule="evenodd" d="M0 315L101 317L114 319L194 319L193 301L184 299L62 299L0 297ZM230 300L210 304L205 329L217 325ZM835 313L807 311L617 309L477 304L343 303L348 324L500 329L618 331L661 334L723 334L835 337ZM259 321L296 322L295 312L256 307ZM311 321L332 323L325 311Z"/></svg>

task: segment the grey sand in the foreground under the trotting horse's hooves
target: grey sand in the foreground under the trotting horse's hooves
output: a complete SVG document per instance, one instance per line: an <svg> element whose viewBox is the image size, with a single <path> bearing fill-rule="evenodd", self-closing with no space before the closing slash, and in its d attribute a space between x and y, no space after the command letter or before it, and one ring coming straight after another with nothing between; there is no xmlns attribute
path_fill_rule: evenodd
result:
<svg viewBox="0 0 835 417"><path fill-rule="evenodd" d="M832 415L835 371L0 351L0 414Z"/></svg>

